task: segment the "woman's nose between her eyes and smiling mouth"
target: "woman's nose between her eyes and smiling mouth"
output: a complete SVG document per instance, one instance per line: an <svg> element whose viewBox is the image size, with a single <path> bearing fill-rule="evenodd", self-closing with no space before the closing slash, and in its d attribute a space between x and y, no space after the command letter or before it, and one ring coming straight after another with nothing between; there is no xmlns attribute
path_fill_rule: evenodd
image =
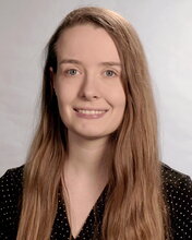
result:
<svg viewBox="0 0 192 240"><path fill-rule="evenodd" d="M94 100L100 97L99 86L96 76L86 73L80 89L81 98Z"/></svg>

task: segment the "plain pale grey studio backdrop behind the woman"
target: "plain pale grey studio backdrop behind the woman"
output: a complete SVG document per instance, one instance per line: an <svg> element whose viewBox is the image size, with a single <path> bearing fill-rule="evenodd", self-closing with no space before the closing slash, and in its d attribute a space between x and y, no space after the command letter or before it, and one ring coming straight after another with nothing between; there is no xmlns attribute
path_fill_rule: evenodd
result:
<svg viewBox="0 0 192 240"><path fill-rule="evenodd" d="M0 0L0 176L25 163L44 48L63 16L84 5L115 10L137 31L153 79L161 160L192 177L191 0Z"/></svg>

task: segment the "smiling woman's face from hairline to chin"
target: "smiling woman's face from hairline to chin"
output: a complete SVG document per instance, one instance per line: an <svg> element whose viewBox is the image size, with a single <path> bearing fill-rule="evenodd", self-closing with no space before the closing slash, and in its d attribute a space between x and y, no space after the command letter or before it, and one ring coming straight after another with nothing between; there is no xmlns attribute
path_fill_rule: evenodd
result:
<svg viewBox="0 0 192 240"><path fill-rule="evenodd" d="M69 134L108 137L121 123L125 107L113 40L101 27L73 26L60 36L57 59L53 87Z"/></svg>

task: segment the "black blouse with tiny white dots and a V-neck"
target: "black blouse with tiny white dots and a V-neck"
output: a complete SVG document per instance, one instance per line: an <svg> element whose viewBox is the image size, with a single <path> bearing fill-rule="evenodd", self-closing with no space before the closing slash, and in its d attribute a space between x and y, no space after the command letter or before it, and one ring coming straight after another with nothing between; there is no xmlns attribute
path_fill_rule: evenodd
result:
<svg viewBox="0 0 192 240"><path fill-rule="evenodd" d="M173 240L192 240L192 181L189 176L163 164L164 194L170 213ZM20 218L19 203L22 196L23 166L9 169L0 178L0 240L15 240ZM85 220L75 240L92 240L97 219L98 236L105 209L107 187ZM61 194L58 193L58 211L52 226L51 240L69 240L70 225ZM74 240L74 238L71 238Z"/></svg>

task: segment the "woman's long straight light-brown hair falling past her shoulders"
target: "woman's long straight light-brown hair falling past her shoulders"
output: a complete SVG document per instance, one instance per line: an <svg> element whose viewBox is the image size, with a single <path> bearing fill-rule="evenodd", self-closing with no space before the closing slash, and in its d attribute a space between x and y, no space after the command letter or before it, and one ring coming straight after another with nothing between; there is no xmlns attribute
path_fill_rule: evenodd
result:
<svg viewBox="0 0 192 240"><path fill-rule="evenodd" d="M17 240L47 240L51 235L68 155L68 131L59 116L49 69L57 71L56 46L60 35L79 24L105 28L123 65L127 106L121 125L110 141L113 152L103 239L165 240L168 215L161 190L157 118L144 51L130 23L112 11L94 7L69 13L47 46L41 116L24 167Z"/></svg>

